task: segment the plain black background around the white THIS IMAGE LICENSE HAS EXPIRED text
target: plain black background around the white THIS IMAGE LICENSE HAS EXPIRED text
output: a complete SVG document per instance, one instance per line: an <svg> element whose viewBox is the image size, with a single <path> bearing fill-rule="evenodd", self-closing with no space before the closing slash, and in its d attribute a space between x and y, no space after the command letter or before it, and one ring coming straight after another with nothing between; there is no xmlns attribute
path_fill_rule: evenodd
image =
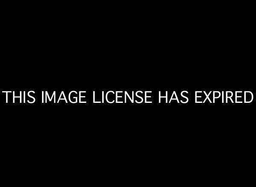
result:
<svg viewBox="0 0 256 187"><path fill-rule="evenodd" d="M3 13L1 91L152 90L154 104L2 102L5 176L131 184L250 178L255 101L196 105L193 96L255 94L247 7L42 7ZM157 91L183 90L187 105L157 104Z"/></svg>

